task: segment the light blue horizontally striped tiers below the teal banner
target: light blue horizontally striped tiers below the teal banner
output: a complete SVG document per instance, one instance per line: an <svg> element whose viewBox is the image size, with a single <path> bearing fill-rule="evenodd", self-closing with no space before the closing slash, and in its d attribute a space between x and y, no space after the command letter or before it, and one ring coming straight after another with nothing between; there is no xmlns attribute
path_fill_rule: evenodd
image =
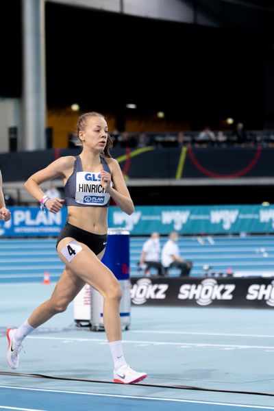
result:
<svg viewBox="0 0 274 411"><path fill-rule="evenodd" d="M130 272L138 271L142 244L147 237L130 238ZM190 275L273 275L273 236L203 236L180 237L179 249L186 260L193 262ZM160 239L164 245L166 237ZM45 271L52 281L62 272L63 264L55 251L55 239L0 240L0 282L42 282ZM155 275L151 271L151 275ZM171 269L170 276L179 275Z"/></svg>

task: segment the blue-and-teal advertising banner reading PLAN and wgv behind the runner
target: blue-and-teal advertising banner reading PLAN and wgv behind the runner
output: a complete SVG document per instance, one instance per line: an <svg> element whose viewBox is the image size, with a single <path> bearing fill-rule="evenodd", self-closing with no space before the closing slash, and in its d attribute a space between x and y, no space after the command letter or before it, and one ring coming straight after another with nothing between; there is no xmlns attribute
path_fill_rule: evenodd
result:
<svg viewBox="0 0 274 411"><path fill-rule="evenodd" d="M66 223L66 208L57 214L38 207L10 207L10 221L0 221L0 237L58 236ZM272 234L274 206L136 206L132 215L118 207L108 210L110 228L125 228L137 236L177 231L185 234Z"/></svg>

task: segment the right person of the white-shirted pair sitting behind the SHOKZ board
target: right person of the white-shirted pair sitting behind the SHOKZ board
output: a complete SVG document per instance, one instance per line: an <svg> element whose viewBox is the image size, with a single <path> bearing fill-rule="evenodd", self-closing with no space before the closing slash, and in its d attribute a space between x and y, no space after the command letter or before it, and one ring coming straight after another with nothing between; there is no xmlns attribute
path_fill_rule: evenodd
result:
<svg viewBox="0 0 274 411"><path fill-rule="evenodd" d="M177 240L179 236L177 232L171 232L169 234L169 240L166 241L162 249L162 266L164 267L164 275L169 274L169 269L171 267L177 267L181 269L180 277L189 275L192 268L192 262L186 261L184 258L180 257L179 247L177 245Z"/></svg>

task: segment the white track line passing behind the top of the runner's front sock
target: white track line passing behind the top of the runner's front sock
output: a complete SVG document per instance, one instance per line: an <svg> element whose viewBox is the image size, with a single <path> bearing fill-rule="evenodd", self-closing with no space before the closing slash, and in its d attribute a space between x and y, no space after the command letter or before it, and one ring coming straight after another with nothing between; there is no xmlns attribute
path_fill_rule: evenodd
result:
<svg viewBox="0 0 274 411"><path fill-rule="evenodd" d="M83 343L88 341L88 343L97 343L98 341L105 342L103 338L72 338L72 337L45 337L45 336L29 336L28 338L33 338L37 340L60 340L60 341L76 341ZM145 340L123 340L123 343L129 344L150 344L150 345L191 345L192 347L233 347L233 348L259 348L259 349L274 349L274 346L267 345L238 345L238 344L208 344L208 343L160 343L159 341L145 341Z"/></svg>

